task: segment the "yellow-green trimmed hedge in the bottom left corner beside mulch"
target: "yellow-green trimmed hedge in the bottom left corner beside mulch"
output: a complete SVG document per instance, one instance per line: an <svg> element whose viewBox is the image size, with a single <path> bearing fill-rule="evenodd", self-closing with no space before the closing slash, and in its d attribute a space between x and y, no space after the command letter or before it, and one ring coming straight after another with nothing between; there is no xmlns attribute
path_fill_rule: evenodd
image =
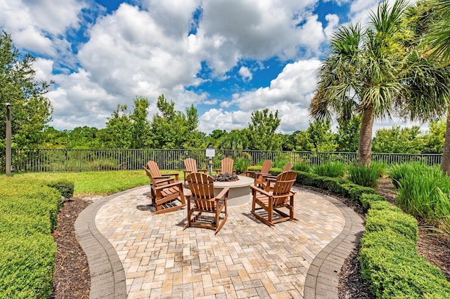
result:
<svg viewBox="0 0 450 299"><path fill-rule="evenodd" d="M49 298L61 194L15 178L2 178L0 190L0 298Z"/></svg>

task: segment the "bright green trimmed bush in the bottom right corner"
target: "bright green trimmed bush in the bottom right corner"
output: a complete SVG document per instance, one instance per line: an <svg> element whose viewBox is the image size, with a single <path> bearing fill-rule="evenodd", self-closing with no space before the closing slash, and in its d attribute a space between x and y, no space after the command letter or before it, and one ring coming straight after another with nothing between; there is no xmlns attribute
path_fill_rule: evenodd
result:
<svg viewBox="0 0 450 299"><path fill-rule="evenodd" d="M376 298L450 298L449 281L414 252L414 245L389 230L364 234L359 255L361 276Z"/></svg>

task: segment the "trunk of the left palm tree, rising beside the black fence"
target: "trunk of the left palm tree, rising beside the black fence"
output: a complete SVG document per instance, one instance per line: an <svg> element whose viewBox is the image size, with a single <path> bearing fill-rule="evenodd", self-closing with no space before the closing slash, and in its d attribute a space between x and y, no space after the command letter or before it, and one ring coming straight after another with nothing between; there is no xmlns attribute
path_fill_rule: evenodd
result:
<svg viewBox="0 0 450 299"><path fill-rule="evenodd" d="M363 112L361 131L359 131L358 154L359 164L371 165L372 161L373 107Z"/></svg>

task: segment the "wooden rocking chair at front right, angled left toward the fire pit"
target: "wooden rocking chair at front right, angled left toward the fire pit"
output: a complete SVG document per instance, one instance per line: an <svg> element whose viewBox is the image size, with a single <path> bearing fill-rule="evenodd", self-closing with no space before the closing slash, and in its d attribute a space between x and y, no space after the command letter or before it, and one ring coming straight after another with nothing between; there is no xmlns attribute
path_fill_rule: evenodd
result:
<svg viewBox="0 0 450 299"><path fill-rule="evenodd" d="M294 218L294 194L291 191L297 173L295 171L286 171L280 173L276 177L274 190L267 192L256 186L252 188L252 214L258 220L261 220L266 225L275 225L275 223L285 220L295 220ZM256 208L256 205L259 208ZM280 211L279 208L288 208L289 215ZM267 213L267 218L256 213L257 210L263 209ZM274 218L274 212L277 214Z"/></svg>

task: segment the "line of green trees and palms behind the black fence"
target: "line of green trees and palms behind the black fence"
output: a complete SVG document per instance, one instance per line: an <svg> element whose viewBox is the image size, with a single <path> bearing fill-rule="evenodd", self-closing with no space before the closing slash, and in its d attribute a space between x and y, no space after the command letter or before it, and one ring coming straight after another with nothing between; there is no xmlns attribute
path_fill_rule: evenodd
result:
<svg viewBox="0 0 450 299"><path fill-rule="evenodd" d="M339 27L318 70L316 93L309 112L314 118L305 131L276 133L278 111L252 112L247 128L198 129L191 105L176 111L160 95L159 112L148 120L149 102L135 98L134 107L117 105L105 128L87 126L57 131L48 126L52 107L45 98L53 82L34 81L34 58L20 55L11 36L0 35L0 113L8 101L15 107L14 147L66 148L205 148L359 152L361 164L371 152L443 152L442 168L450 167L450 1L426 0L408 6L384 1L368 25ZM447 120L442 121L447 114ZM375 132L375 119L401 117L429 121L428 132L418 127L393 126ZM331 120L338 131L331 130ZM0 122L0 147L4 147Z"/></svg>

